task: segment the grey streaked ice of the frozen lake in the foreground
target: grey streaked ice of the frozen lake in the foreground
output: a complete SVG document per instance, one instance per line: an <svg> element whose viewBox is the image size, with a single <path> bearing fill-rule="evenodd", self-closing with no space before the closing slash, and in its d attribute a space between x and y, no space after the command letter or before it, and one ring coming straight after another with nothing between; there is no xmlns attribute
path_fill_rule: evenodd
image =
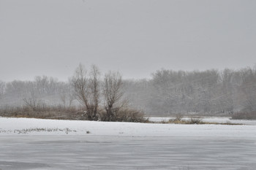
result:
<svg viewBox="0 0 256 170"><path fill-rule="evenodd" d="M1 136L4 169L256 169L253 139Z"/></svg>

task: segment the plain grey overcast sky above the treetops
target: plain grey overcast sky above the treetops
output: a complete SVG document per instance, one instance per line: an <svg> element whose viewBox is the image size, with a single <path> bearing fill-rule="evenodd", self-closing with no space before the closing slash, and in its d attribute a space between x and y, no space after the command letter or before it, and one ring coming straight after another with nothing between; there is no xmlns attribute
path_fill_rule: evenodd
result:
<svg viewBox="0 0 256 170"><path fill-rule="evenodd" d="M256 63L255 0L0 0L0 80Z"/></svg>

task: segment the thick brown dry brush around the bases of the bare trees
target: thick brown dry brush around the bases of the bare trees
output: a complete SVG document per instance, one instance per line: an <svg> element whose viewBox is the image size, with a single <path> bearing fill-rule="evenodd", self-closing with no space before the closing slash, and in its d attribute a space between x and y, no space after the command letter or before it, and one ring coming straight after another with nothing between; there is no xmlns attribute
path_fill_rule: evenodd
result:
<svg viewBox="0 0 256 170"><path fill-rule="evenodd" d="M40 119L56 119L56 120L89 120L86 115L86 110L83 107L50 107L50 106L37 106L37 107L4 107L0 109L0 116L2 117L28 117ZM99 117L104 120L105 111L100 109ZM110 121L115 122L140 122L146 123L148 120L144 117L142 111L136 109L119 109L115 112Z"/></svg>

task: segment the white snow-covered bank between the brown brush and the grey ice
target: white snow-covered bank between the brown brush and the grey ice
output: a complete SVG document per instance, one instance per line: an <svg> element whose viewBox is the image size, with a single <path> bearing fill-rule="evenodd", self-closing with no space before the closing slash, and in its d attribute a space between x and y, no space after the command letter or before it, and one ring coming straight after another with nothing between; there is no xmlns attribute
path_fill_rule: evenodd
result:
<svg viewBox="0 0 256 170"><path fill-rule="evenodd" d="M255 128L255 125L176 125L0 117L0 135L225 136L256 139Z"/></svg>

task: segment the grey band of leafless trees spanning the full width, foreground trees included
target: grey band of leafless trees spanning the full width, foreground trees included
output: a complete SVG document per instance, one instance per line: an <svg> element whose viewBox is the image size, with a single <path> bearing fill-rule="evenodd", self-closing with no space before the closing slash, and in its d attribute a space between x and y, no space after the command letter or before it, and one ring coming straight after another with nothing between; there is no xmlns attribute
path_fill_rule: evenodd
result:
<svg viewBox="0 0 256 170"><path fill-rule="evenodd" d="M121 80L118 72L102 74L93 66L88 72L86 69L77 69L66 82L48 76L37 76L33 81L0 81L0 107L85 105L91 109L91 115L95 115L98 105L102 105L111 115L117 102L118 106L125 103L143 110L146 115L233 115L256 111L256 67L193 72L161 69L149 80ZM94 83L94 86L84 89L94 93L83 96L79 88L74 88L74 78L78 78L81 72L88 73L84 79ZM107 87L109 83L118 86L114 92L116 96L111 96L115 87Z"/></svg>

